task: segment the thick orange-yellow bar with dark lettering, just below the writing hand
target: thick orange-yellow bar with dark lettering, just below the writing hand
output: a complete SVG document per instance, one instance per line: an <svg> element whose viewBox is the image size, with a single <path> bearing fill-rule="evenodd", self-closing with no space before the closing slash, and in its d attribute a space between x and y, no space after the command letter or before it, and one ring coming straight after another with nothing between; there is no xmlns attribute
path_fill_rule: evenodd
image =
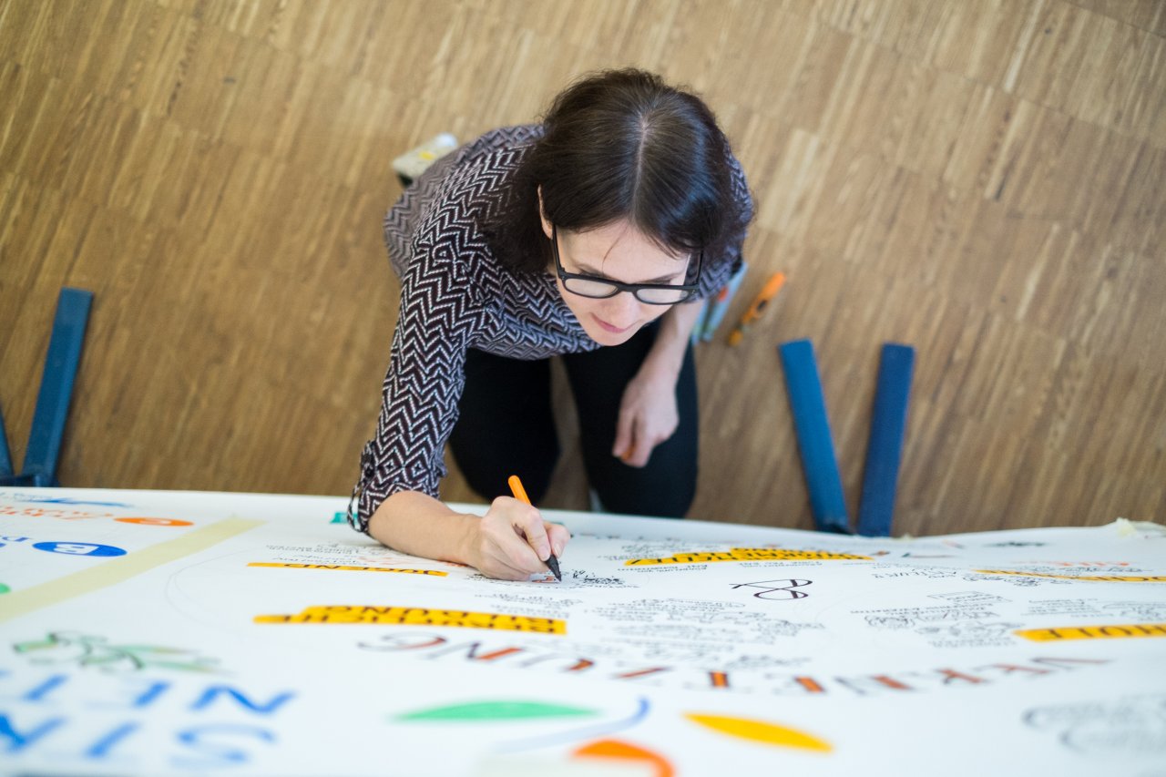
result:
<svg viewBox="0 0 1166 777"><path fill-rule="evenodd" d="M534 631L567 634L567 621L536 618L503 612L434 610L424 607L371 607L360 604L321 604L304 608L296 615L257 615L255 623L368 623L374 625L429 625L497 631Z"/></svg>

